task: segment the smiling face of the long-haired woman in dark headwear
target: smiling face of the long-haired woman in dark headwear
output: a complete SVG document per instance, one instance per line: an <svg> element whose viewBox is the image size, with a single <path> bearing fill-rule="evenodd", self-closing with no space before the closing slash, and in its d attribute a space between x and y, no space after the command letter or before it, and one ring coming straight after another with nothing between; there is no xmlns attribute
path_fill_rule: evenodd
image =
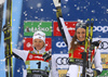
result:
<svg viewBox="0 0 108 77"><path fill-rule="evenodd" d="M85 29L84 28L78 28L77 29L77 38L80 41L84 41L85 40Z"/></svg>

